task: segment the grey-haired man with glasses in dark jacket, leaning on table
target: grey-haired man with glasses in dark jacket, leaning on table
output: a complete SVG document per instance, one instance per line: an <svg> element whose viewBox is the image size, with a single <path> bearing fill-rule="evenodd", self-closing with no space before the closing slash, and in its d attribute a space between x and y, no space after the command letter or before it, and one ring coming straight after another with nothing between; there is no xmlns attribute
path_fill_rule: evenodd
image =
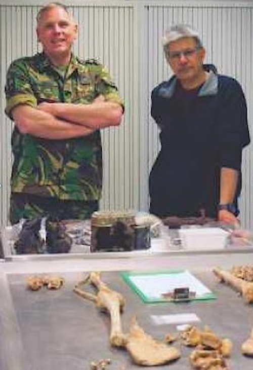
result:
<svg viewBox="0 0 253 370"><path fill-rule="evenodd" d="M151 94L161 150L149 178L150 212L160 217L204 212L236 224L242 149L250 141L241 86L203 64L199 35L186 25L165 33L163 51L174 76Z"/></svg>

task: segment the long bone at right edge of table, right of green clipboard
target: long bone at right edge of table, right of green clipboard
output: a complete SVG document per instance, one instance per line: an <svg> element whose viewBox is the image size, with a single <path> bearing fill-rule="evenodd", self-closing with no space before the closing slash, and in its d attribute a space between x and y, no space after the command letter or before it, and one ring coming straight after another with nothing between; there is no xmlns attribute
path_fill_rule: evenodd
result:
<svg viewBox="0 0 253 370"><path fill-rule="evenodd" d="M221 282L230 285L232 288L240 292L246 303L253 302L252 282L244 281L240 278L237 278L229 271L222 270L219 267L214 268L213 272L220 279Z"/></svg>

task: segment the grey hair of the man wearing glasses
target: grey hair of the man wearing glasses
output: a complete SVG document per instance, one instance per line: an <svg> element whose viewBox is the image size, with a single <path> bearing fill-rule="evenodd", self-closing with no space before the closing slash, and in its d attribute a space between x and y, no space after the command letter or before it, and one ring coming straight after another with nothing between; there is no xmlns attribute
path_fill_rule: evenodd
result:
<svg viewBox="0 0 253 370"><path fill-rule="evenodd" d="M196 41L196 47L202 48L203 44L198 32L186 24L177 24L167 29L162 39L163 52L168 59L168 47L173 41L183 38L193 38Z"/></svg>

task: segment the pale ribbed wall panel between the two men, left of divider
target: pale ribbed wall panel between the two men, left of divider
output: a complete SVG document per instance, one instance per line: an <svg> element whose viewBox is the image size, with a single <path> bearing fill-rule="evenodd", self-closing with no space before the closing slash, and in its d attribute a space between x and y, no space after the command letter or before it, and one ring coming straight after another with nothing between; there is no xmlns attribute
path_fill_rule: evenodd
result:
<svg viewBox="0 0 253 370"><path fill-rule="evenodd" d="M129 137L134 135L134 122L129 120L133 100L133 7L90 6L74 7L80 36L74 52L83 58L98 58L111 72L125 100L125 120L119 128L102 131L104 187L101 207L123 209L133 207L134 168ZM137 205L138 206L138 205Z"/></svg>

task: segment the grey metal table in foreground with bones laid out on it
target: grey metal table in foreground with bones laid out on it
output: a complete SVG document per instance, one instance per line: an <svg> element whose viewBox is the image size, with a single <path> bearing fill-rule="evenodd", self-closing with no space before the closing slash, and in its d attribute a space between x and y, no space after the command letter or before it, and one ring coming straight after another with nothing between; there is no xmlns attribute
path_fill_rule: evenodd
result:
<svg viewBox="0 0 253 370"><path fill-rule="evenodd" d="M234 350L230 369L251 370L253 358L240 354L241 343L252 327L252 307L238 294L218 282L212 268L230 268L253 261L252 248L215 251L184 251L152 248L147 251L90 253L67 256L16 256L0 263L0 368L1 370L89 370L90 362L111 358L108 370L139 369L128 352L109 345L109 317L91 302L78 297L73 287L83 274L102 271L102 278L123 293L124 331L136 315L140 325L156 339L176 331L176 325L156 325L151 315L196 313L198 326L209 325L218 335L229 337ZM120 276L120 271L159 271L188 269L217 294L212 301L145 304ZM58 274L65 286L56 291L26 289L25 277L32 274ZM179 343L175 344L179 346ZM182 357L157 369L190 369L191 349L182 348Z"/></svg>

